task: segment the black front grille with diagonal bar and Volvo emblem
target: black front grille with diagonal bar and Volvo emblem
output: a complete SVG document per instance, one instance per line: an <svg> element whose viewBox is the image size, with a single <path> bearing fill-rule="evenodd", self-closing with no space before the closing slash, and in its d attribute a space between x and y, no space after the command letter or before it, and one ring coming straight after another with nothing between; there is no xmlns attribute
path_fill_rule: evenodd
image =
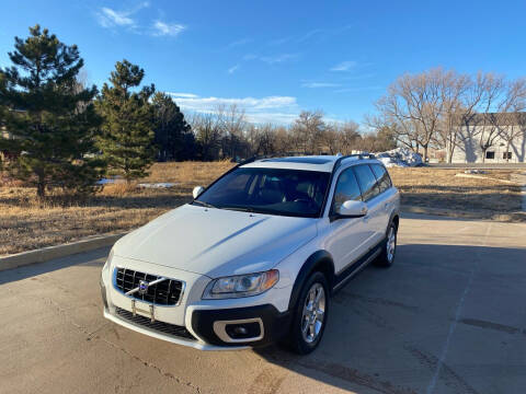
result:
<svg viewBox="0 0 526 394"><path fill-rule="evenodd" d="M128 292L139 286L140 280L152 282L159 279L159 276L136 271L127 268L116 268L115 285L123 293ZM130 294L137 300L151 302L158 305L175 305L179 303L183 292L183 282L175 279L167 279L157 285L148 287L145 294L138 291Z"/></svg>

